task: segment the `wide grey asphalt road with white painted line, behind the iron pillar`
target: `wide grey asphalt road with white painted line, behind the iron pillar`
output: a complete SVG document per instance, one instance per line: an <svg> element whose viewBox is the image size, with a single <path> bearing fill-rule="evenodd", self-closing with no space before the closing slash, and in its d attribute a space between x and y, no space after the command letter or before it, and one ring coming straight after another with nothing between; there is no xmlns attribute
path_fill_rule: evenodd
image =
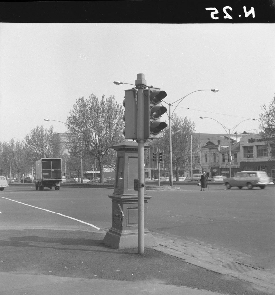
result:
<svg viewBox="0 0 275 295"><path fill-rule="evenodd" d="M206 191L194 185L184 185L181 191L147 191L152 196L148 229L244 253L244 263L275 273L274 193L275 186L226 190L211 184ZM0 229L108 229L112 218L108 194L112 189L36 191L31 186L10 186L0 194L7 198L0 198Z"/></svg>

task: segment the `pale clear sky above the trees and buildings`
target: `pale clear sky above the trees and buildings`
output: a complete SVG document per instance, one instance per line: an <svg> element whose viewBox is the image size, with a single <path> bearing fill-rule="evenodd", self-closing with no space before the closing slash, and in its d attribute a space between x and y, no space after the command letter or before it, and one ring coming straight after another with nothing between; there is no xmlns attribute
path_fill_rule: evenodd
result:
<svg viewBox="0 0 275 295"><path fill-rule="evenodd" d="M61 122L78 98L122 104L132 86L113 81L135 84L138 73L166 91L171 112L196 91L174 111L195 132L238 124L234 132L256 134L258 121L240 122L258 118L274 97L274 32L270 23L0 23L0 142L24 140L42 125L66 132Z"/></svg>

